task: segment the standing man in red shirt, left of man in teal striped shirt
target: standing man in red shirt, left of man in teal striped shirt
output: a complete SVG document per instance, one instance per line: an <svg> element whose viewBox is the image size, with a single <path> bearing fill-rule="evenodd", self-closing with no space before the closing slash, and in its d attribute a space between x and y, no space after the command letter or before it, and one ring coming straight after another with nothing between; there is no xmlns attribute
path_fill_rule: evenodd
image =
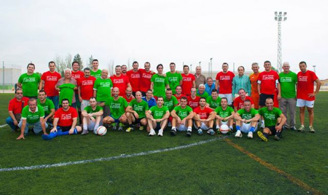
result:
<svg viewBox="0 0 328 195"><path fill-rule="evenodd" d="M217 73L215 78L215 89L219 92L219 97L228 99L228 105L232 105L232 79L235 74L228 71L229 64L224 62L222 64L222 71Z"/></svg>

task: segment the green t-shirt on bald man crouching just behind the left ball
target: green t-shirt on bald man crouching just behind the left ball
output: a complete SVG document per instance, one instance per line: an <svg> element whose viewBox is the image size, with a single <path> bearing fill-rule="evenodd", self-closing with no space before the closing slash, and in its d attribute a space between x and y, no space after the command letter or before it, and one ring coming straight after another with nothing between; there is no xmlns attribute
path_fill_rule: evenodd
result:
<svg viewBox="0 0 328 195"><path fill-rule="evenodd" d="M125 113L126 107L128 107L128 102L126 99L119 96L117 100L114 100L114 97L110 97L105 105L109 107L109 110L111 111L111 115L118 119L120 116L122 116Z"/></svg>

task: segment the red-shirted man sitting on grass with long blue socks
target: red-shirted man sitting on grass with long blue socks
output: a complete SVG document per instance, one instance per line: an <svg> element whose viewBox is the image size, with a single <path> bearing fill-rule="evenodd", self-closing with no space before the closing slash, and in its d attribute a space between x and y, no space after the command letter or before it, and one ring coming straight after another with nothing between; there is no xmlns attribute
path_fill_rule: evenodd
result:
<svg viewBox="0 0 328 195"><path fill-rule="evenodd" d="M70 106L68 99L61 100L61 106L56 112L53 119L53 128L49 135L42 135L44 140L50 140L56 136L78 134L82 131L80 126L76 126L77 111Z"/></svg>

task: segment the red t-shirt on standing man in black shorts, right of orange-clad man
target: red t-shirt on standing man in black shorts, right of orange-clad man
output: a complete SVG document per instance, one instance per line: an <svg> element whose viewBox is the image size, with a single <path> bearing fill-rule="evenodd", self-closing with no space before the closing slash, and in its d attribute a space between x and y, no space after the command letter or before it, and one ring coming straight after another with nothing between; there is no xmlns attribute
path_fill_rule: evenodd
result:
<svg viewBox="0 0 328 195"><path fill-rule="evenodd" d="M276 71L261 72L258 76L257 83L261 84L261 94L274 95L276 83L279 80L279 75Z"/></svg>

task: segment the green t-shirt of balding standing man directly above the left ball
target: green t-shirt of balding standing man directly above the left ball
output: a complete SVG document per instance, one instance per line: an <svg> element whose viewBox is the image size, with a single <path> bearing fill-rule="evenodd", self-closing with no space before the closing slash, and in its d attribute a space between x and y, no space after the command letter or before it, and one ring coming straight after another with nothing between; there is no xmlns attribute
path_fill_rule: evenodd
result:
<svg viewBox="0 0 328 195"><path fill-rule="evenodd" d="M111 97L111 88L113 88L111 79L97 78L93 85L93 89L97 91L97 101L107 101Z"/></svg>

